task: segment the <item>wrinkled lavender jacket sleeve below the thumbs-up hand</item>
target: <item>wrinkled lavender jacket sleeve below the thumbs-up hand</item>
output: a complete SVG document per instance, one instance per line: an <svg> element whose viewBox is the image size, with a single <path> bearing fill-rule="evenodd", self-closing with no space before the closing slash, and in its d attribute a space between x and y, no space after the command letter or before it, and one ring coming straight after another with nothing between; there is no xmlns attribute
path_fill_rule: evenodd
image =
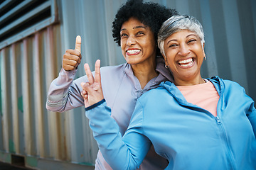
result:
<svg viewBox="0 0 256 170"><path fill-rule="evenodd" d="M48 111L63 112L84 106L80 83L87 81L87 77L75 79L76 71L67 72L61 69L59 76L52 81L46 101Z"/></svg>

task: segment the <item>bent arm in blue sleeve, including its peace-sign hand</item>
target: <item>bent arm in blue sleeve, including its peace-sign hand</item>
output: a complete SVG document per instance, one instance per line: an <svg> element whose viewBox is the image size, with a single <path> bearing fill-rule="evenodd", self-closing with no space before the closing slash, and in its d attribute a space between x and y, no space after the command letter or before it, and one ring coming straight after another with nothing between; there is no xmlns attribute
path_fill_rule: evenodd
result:
<svg viewBox="0 0 256 170"><path fill-rule="evenodd" d="M100 84L100 61L95 64L95 79L85 64L88 83L82 83L86 116L103 157L113 169L137 169L151 147L150 140L143 135L142 107L137 103L127 132L122 135L111 109L103 99Z"/></svg>

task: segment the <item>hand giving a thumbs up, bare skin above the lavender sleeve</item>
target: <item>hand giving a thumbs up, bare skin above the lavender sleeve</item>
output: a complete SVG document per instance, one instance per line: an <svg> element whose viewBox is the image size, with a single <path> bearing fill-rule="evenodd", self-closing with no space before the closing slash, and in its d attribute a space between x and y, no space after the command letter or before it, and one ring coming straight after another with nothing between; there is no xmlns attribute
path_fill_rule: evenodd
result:
<svg viewBox="0 0 256 170"><path fill-rule="evenodd" d="M81 62L81 37L78 35L75 40L75 50L69 49L63 55L63 69L66 71L74 70Z"/></svg>

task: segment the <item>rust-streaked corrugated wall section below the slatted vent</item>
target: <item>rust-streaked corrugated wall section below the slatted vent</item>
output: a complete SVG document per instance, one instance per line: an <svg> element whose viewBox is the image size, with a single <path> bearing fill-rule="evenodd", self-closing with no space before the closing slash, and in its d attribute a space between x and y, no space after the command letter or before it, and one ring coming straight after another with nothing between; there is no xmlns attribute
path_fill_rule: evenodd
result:
<svg viewBox="0 0 256 170"><path fill-rule="evenodd" d="M26 166L37 169L61 167L53 166L52 160L85 164L77 168L93 167L97 145L84 113L71 116L46 110L48 87L61 68L61 42L60 24L55 24L0 52L2 162L24 157ZM82 119L81 124L77 125L76 118ZM80 145L70 138L74 134L81 138Z"/></svg>

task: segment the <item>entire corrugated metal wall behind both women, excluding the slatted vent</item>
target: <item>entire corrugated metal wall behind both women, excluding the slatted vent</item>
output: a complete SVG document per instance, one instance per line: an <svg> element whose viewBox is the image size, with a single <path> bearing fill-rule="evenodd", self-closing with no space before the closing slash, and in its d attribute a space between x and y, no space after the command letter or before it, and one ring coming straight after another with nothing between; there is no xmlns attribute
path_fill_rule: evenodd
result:
<svg viewBox="0 0 256 170"><path fill-rule="evenodd" d="M25 156L26 166L37 169L93 169L97 145L84 108L48 112L46 95L65 50L75 47L76 35L82 37L82 64L93 67L97 59L103 66L124 62L111 26L125 1L57 2L60 23L0 51L0 161L11 163L14 154ZM203 77L218 75L237 81L256 100L255 0L154 2L196 16L203 24L207 57ZM80 66L77 77L84 74Z"/></svg>

